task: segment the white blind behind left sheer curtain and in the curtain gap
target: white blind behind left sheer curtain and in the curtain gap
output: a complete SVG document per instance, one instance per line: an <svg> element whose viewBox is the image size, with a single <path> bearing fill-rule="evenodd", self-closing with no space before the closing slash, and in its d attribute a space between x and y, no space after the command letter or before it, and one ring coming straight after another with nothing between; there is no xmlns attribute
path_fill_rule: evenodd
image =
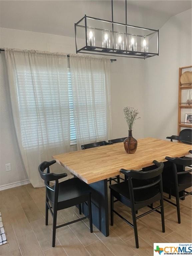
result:
<svg viewBox="0 0 192 256"><path fill-rule="evenodd" d="M59 78L58 78L59 77ZM50 87L51 81L51 87ZM17 72L17 92L22 144L32 148L62 143L65 138L66 109L70 112L70 143L76 144L71 73ZM66 100L66 93L68 97ZM68 111L68 110L67 110Z"/></svg>

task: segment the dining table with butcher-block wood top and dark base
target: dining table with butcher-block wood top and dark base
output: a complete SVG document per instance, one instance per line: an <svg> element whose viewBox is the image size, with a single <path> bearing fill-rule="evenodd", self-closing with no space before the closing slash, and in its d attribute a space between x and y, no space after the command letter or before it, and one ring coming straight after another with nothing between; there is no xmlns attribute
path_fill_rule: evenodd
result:
<svg viewBox="0 0 192 256"><path fill-rule="evenodd" d="M122 168L139 171L152 166L153 160L166 162L166 156L183 157L189 154L189 150L191 145L147 137L138 139L134 154L127 154L123 142L120 142L56 155L53 159L91 187L93 224L108 236L107 180L120 175ZM82 212L88 215L85 203L82 205Z"/></svg>

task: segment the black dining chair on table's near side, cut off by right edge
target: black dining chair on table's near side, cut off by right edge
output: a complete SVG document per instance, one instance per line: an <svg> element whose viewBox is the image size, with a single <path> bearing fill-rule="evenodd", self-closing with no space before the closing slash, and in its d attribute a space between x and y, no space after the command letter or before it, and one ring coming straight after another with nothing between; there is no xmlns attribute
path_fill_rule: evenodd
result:
<svg viewBox="0 0 192 256"><path fill-rule="evenodd" d="M191 153L191 150L189 153ZM169 199L171 199L172 194L175 195L176 204L166 198L164 198L164 200L177 207L178 223L181 223L179 199L183 199L192 194L192 192L185 191L185 189L192 186L192 175L190 174L192 169L185 171L185 167L191 168L192 158L172 158L166 156L165 159L172 163L172 168L166 169L167 175L165 179L163 179L163 186L169 190ZM182 167L182 170L180 167ZM182 196L179 196L179 192L183 192Z"/></svg>

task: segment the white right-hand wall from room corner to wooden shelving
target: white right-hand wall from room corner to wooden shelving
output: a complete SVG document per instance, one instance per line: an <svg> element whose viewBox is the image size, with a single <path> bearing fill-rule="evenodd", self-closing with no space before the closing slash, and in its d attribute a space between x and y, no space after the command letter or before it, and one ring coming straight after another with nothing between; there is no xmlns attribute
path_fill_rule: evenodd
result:
<svg viewBox="0 0 192 256"><path fill-rule="evenodd" d="M192 63L191 9L169 19L159 35L160 55L144 67L144 135L165 139L177 135L179 67Z"/></svg>

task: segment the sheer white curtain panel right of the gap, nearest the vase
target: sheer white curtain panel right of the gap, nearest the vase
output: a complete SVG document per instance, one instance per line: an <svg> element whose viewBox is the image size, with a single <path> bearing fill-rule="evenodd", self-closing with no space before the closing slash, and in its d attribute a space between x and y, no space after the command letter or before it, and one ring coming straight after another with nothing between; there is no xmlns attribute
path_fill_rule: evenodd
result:
<svg viewBox="0 0 192 256"><path fill-rule="evenodd" d="M110 60L70 56L77 148L111 133Z"/></svg>

